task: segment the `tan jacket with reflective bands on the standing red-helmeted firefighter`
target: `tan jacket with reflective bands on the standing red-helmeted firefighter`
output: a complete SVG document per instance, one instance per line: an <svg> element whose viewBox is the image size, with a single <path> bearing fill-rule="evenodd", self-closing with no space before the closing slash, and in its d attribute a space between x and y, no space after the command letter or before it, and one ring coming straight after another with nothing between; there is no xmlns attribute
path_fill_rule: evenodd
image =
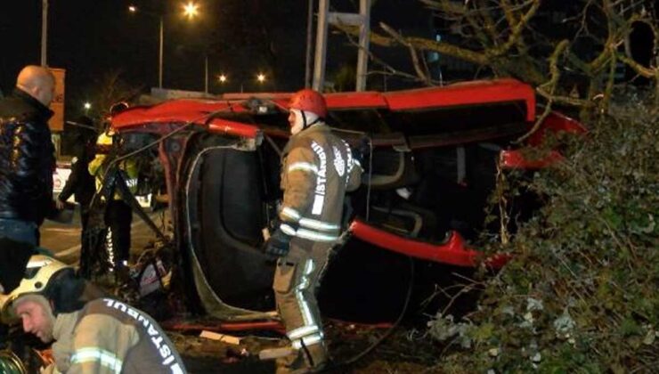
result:
<svg viewBox="0 0 659 374"><path fill-rule="evenodd" d="M338 240L346 191L359 187L362 174L348 144L329 126L314 125L291 136L281 165L281 230L306 240Z"/></svg>

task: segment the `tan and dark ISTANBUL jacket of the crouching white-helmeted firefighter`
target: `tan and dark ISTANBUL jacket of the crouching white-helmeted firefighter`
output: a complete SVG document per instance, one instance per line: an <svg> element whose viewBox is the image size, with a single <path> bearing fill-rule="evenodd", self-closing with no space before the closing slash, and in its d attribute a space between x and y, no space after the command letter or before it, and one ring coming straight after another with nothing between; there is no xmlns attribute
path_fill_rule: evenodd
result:
<svg viewBox="0 0 659 374"><path fill-rule="evenodd" d="M111 298L57 316L53 357L64 373L186 372L180 355L149 315Z"/></svg>

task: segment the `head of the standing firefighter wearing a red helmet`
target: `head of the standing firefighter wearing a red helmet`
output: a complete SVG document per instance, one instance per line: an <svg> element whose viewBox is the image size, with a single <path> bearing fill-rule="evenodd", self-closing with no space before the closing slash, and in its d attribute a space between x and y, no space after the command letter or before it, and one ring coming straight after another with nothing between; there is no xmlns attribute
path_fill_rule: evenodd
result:
<svg viewBox="0 0 659 374"><path fill-rule="evenodd" d="M297 91L289 102L290 133L297 134L327 117L325 98L317 91L305 88Z"/></svg>

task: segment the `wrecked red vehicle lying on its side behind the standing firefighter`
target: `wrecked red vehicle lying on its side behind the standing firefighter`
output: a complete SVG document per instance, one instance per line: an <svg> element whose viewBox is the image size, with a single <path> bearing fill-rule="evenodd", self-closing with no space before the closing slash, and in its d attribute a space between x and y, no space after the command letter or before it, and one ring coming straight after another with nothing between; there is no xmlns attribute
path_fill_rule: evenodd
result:
<svg viewBox="0 0 659 374"><path fill-rule="evenodd" d="M173 100L112 118L126 152L158 144L187 294L225 320L263 317L273 307L273 264L260 246L281 198L278 151L288 138L290 94ZM405 256L429 266L430 278L482 261L505 264L507 256L484 258L469 244L488 230L484 206L497 167L533 169L560 159L557 152L525 159L515 145L536 118L531 86L500 79L325 97L329 124L347 142L368 139L371 151L369 173L346 209L346 242L325 282L338 286L323 284L329 290L321 306L322 295L368 303L369 291L346 296L346 289L390 289L401 266L389 264ZM527 143L540 144L551 131L583 129L552 113ZM527 213L523 205L513 207L518 215Z"/></svg>

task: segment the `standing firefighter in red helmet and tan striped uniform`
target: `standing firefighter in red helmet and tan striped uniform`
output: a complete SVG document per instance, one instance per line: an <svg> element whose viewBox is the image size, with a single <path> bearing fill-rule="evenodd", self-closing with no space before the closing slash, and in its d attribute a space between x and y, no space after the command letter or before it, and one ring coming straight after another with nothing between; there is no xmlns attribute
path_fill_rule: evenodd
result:
<svg viewBox="0 0 659 374"><path fill-rule="evenodd" d="M278 362L281 373L320 370L327 362L315 291L342 232L346 191L359 187L362 174L348 144L325 124L321 93L295 93L289 110L292 136L281 157L280 223L265 243L265 252L278 256L273 290L295 352Z"/></svg>

